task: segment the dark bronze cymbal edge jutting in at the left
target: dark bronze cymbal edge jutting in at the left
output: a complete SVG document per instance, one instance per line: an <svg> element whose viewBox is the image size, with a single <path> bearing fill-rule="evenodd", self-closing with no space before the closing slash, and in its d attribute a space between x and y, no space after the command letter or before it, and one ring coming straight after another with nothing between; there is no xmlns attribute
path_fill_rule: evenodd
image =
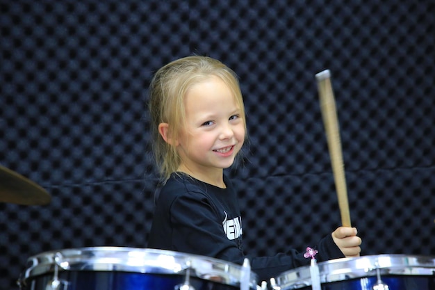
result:
<svg viewBox="0 0 435 290"><path fill-rule="evenodd" d="M42 205L51 201L51 195L17 172L0 166L0 202L24 205Z"/></svg>

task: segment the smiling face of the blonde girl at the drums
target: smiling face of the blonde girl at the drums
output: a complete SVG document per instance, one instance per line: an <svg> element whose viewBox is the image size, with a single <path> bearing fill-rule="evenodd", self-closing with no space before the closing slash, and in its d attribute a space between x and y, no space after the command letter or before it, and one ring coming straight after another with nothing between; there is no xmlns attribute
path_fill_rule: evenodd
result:
<svg viewBox="0 0 435 290"><path fill-rule="evenodd" d="M192 86L185 97L186 126L178 150L181 166L191 172L228 168L245 140L240 107L229 87L216 76Z"/></svg>

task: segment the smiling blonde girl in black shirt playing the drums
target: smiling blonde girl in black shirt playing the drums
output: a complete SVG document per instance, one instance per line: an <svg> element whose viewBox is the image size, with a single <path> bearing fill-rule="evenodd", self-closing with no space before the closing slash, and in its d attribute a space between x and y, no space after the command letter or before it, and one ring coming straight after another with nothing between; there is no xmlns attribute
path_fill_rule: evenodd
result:
<svg viewBox="0 0 435 290"><path fill-rule="evenodd" d="M224 168L233 164L246 136L245 108L236 74L205 56L188 56L156 72L149 88L154 154L163 187L148 247L214 257L268 280L308 265L294 249L272 257L245 256L236 192ZM356 229L338 227L317 247L318 261L359 256Z"/></svg>

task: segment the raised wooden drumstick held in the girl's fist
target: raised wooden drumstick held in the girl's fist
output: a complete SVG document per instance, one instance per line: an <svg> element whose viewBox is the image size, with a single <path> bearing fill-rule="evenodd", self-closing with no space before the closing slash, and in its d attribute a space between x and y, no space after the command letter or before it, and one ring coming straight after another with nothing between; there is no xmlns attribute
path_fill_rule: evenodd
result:
<svg viewBox="0 0 435 290"><path fill-rule="evenodd" d="M338 131L336 104L331 86L331 73L329 70L324 70L315 74L315 78L318 82L320 109L325 125L329 155L331 156L331 166L334 173L338 206L340 207L341 223L344 227L350 227L349 203L347 201L346 179L341 152L340 131Z"/></svg>

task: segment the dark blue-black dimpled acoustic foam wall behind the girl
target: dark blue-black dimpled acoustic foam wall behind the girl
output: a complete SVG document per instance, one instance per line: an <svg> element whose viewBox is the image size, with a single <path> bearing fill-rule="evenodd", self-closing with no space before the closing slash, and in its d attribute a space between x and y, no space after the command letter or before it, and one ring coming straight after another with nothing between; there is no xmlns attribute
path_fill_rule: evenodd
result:
<svg viewBox="0 0 435 290"><path fill-rule="evenodd" d="M435 254L434 1L0 1L0 163L49 191L0 203L0 288L47 250L147 246L147 87L212 56L239 76L249 143L227 170L245 249L340 225L315 74L329 69L362 255Z"/></svg>

